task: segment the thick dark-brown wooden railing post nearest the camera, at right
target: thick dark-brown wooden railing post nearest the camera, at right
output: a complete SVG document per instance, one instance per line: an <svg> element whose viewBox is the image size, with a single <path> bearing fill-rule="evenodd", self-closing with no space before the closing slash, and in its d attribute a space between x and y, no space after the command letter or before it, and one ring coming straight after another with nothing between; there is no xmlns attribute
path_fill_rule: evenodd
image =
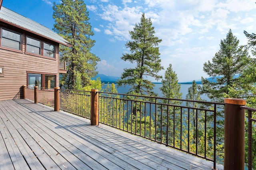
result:
<svg viewBox="0 0 256 170"><path fill-rule="evenodd" d="M225 98L224 170L244 170L244 109L246 100Z"/></svg>

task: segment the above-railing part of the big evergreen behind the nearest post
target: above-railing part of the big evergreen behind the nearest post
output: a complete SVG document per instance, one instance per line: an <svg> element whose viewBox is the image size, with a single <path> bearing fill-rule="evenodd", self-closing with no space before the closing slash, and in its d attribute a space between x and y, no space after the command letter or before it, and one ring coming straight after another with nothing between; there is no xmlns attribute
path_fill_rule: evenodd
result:
<svg viewBox="0 0 256 170"><path fill-rule="evenodd" d="M217 81L209 81L202 78L202 94L207 96L214 102L223 102L228 95L228 87L238 81L235 75L242 74L243 70L248 66L250 56L248 50L244 46L239 46L239 40L232 34L231 29L226 35L226 39L220 41L220 50L212 58L212 63L208 61L204 63L204 72L210 77L217 77Z"/></svg>

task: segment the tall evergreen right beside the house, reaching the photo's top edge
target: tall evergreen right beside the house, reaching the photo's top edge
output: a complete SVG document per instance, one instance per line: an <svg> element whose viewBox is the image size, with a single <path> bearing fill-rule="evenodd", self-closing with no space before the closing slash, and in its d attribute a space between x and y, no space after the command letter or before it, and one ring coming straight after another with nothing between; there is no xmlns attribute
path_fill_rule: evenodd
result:
<svg viewBox="0 0 256 170"><path fill-rule="evenodd" d="M95 41L89 23L89 13L83 0L62 0L54 2L54 31L64 37L72 47L60 46L60 60L66 61L68 72L62 75L60 82L68 89L87 86L96 76L96 64L100 61L90 52ZM61 86L62 86L61 85Z"/></svg>

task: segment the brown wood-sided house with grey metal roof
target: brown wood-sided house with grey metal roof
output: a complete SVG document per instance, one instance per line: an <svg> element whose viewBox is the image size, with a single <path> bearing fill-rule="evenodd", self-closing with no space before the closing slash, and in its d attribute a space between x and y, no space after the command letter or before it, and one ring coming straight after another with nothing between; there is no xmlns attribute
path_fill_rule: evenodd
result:
<svg viewBox="0 0 256 170"><path fill-rule="evenodd" d="M51 29L12 10L0 1L0 101L22 98L22 85L54 88L59 73L59 45L68 41Z"/></svg>

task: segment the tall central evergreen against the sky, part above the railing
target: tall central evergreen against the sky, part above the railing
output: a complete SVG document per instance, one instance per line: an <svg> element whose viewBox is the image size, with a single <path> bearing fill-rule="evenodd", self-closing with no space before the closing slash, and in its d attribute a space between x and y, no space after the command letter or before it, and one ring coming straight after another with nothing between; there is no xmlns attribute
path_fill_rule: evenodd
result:
<svg viewBox="0 0 256 170"><path fill-rule="evenodd" d="M118 80L118 86L132 86L128 93L139 95L156 95L153 92L154 84L145 78L154 77L156 80L162 78L157 73L163 69L160 62L160 53L158 43L162 40L154 36L154 27L150 18L145 18L142 14L140 23L136 23L134 30L129 31L131 39L126 43L131 53L123 54L124 61L136 63L135 68L125 68L121 80Z"/></svg>

